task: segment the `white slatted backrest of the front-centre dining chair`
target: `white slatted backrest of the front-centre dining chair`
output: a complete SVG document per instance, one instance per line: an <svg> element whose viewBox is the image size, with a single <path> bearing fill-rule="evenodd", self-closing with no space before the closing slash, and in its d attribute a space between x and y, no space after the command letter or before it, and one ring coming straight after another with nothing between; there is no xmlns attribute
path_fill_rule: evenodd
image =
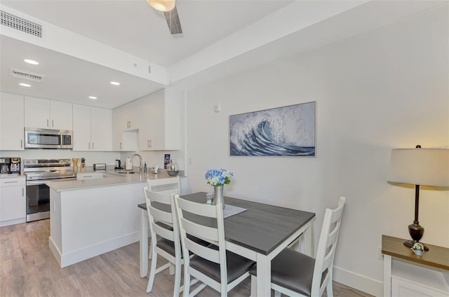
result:
<svg viewBox="0 0 449 297"><path fill-rule="evenodd" d="M206 205L175 195L175 208L181 234L185 267L189 267L189 251L208 261L220 264L221 283L227 284L225 222L221 203ZM213 246L205 247L187 237L187 234L206 240ZM216 249L218 247L218 250Z"/></svg>

